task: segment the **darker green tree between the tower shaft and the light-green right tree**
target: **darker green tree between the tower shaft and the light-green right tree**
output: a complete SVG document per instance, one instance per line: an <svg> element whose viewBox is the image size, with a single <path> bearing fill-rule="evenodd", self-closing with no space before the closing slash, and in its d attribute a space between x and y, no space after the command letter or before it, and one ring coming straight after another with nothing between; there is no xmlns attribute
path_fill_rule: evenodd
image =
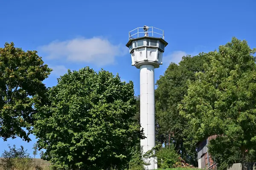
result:
<svg viewBox="0 0 256 170"><path fill-rule="evenodd" d="M173 145L183 159L196 165L196 148L188 138L186 118L179 114L178 104L187 93L188 80L195 80L195 73L203 70L207 62L204 53L197 56L184 56L179 65L171 63L163 76L157 80L155 90L157 141ZM185 140L184 140L185 139Z"/></svg>

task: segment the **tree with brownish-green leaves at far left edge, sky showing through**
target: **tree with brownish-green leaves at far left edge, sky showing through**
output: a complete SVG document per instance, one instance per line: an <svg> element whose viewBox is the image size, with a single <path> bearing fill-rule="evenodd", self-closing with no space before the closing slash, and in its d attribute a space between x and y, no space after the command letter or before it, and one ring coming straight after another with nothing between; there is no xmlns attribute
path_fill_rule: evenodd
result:
<svg viewBox="0 0 256 170"><path fill-rule="evenodd" d="M18 136L30 141L33 103L36 99L43 104L42 81L50 72L36 51L24 52L14 43L0 48L0 137L4 140Z"/></svg>

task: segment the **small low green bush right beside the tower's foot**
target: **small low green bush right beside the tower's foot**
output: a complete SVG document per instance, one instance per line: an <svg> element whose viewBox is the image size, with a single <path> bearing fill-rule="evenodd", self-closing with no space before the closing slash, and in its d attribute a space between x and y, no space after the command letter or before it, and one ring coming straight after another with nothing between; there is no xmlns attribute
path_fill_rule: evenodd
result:
<svg viewBox="0 0 256 170"><path fill-rule="evenodd" d="M156 156L158 167L163 169L174 167L180 157L173 147L162 147L157 151Z"/></svg>

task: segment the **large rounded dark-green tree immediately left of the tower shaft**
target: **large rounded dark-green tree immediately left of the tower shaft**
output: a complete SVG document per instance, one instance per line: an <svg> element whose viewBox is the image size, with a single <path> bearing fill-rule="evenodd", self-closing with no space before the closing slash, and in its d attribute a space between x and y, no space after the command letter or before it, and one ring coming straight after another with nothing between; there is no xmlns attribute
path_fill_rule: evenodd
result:
<svg viewBox="0 0 256 170"><path fill-rule="evenodd" d="M44 158L63 169L125 169L141 133L133 83L89 67L68 72L38 106L35 135Z"/></svg>

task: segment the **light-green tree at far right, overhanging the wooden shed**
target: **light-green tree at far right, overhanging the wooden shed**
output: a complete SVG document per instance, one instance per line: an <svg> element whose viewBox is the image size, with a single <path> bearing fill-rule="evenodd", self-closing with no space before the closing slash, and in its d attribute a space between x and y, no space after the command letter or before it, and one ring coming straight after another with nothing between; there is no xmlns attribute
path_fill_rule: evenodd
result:
<svg viewBox="0 0 256 170"><path fill-rule="evenodd" d="M207 54L205 72L190 82L180 113L189 119L197 141L218 135L209 143L221 169L235 162L246 169L256 151L256 49L235 37ZM256 161L256 160L254 160Z"/></svg>

